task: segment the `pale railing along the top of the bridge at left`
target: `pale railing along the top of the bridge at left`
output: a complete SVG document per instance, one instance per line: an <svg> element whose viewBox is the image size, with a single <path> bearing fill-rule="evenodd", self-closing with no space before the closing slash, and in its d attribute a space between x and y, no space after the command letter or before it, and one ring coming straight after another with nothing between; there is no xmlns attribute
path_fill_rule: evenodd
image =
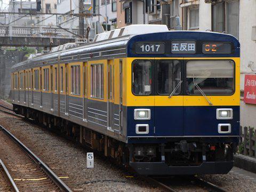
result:
<svg viewBox="0 0 256 192"><path fill-rule="evenodd" d="M70 29L67 29L70 30ZM6 37L52 37L52 38L77 38L78 29L67 30L52 26L0 26L0 36Z"/></svg>

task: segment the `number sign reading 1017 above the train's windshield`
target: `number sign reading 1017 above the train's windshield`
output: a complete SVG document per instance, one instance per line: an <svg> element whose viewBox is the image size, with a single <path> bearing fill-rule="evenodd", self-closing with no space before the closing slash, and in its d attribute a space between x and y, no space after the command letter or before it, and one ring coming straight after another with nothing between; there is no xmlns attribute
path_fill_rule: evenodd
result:
<svg viewBox="0 0 256 192"><path fill-rule="evenodd" d="M137 54L163 54L164 43L136 43L135 52Z"/></svg>

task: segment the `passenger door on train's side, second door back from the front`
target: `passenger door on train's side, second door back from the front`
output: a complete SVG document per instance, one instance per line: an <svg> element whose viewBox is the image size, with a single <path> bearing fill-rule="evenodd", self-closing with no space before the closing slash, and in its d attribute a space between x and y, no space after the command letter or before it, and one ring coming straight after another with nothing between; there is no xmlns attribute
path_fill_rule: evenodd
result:
<svg viewBox="0 0 256 192"><path fill-rule="evenodd" d="M113 66L114 60L107 62L107 129L114 134L114 99L113 99ZM111 134L111 133L110 133Z"/></svg>

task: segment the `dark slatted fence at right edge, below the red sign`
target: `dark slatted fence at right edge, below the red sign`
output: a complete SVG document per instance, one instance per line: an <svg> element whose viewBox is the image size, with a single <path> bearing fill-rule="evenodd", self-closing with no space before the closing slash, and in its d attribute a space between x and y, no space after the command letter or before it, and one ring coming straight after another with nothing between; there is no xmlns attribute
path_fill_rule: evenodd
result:
<svg viewBox="0 0 256 192"><path fill-rule="evenodd" d="M241 126L239 132L239 153L256 158L256 130Z"/></svg>

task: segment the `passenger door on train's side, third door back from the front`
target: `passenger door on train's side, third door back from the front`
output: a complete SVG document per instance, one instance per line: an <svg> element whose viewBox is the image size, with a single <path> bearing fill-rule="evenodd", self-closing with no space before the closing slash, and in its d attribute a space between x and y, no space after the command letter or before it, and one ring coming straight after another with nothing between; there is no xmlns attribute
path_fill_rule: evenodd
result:
<svg viewBox="0 0 256 192"><path fill-rule="evenodd" d="M87 122L87 89L88 89L88 68L87 68L87 62L83 63L83 89L84 89L84 94L83 94L83 121Z"/></svg>

